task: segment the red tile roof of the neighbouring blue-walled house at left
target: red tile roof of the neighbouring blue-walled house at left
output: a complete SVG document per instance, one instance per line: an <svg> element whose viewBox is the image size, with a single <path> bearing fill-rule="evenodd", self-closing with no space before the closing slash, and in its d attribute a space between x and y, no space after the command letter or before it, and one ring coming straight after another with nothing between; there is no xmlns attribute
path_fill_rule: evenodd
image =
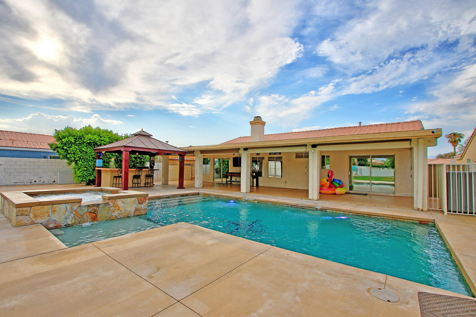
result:
<svg viewBox="0 0 476 317"><path fill-rule="evenodd" d="M0 146L50 150L54 141L53 135L0 130Z"/></svg>

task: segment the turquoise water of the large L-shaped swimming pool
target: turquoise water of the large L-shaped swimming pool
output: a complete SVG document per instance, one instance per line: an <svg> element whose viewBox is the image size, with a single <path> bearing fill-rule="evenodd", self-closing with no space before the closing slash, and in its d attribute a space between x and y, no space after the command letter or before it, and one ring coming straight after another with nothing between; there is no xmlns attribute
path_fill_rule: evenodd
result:
<svg viewBox="0 0 476 317"><path fill-rule="evenodd" d="M433 224L188 196L149 201L147 217L52 233L72 246L182 221L471 296Z"/></svg>

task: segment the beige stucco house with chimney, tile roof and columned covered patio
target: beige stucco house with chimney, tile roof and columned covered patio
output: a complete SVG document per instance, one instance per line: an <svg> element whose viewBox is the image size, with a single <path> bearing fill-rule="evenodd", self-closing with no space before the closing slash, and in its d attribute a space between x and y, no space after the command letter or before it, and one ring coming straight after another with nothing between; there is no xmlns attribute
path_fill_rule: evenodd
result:
<svg viewBox="0 0 476 317"><path fill-rule="evenodd" d="M318 200L320 180L332 170L347 192L413 197L415 210L427 210L427 147L441 129L414 120L264 134L261 117L249 124L250 136L184 148L196 157L195 187L235 173L240 192L250 192L255 177L259 186L305 189Z"/></svg>

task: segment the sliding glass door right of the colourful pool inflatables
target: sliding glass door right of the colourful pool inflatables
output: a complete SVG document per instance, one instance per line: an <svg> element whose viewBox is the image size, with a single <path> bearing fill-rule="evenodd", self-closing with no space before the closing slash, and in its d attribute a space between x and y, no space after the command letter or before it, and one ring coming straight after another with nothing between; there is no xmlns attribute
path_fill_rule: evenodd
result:
<svg viewBox="0 0 476 317"><path fill-rule="evenodd" d="M395 193L395 155L350 156L349 191Z"/></svg>

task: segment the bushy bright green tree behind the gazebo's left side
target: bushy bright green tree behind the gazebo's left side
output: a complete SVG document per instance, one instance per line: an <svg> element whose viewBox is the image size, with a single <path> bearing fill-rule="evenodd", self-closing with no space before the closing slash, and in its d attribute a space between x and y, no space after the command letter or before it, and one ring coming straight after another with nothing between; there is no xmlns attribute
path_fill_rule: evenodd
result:
<svg viewBox="0 0 476 317"><path fill-rule="evenodd" d="M80 129L70 126L56 130L53 134L55 142L48 144L51 150L73 166L73 177L76 183L94 184L96 177L96 154L94 148L119 141L121 136L100 127L90 125ZM109 167L111 156L103 157L103 166Z"/></svg>

